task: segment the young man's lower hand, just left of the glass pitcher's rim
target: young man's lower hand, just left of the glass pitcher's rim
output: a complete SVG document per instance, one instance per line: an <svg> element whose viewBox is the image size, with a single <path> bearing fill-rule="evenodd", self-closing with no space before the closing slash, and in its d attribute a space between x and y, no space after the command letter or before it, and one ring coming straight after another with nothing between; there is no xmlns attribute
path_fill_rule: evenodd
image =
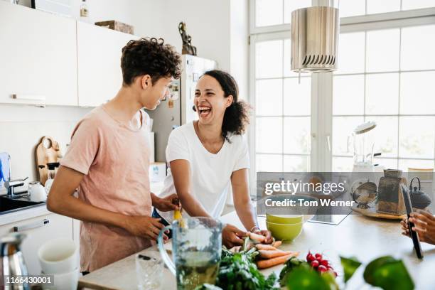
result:
<svg viewBox="0 0 435 290"><path fill-rule="evenodd" d="M160 218L151 218L144 215L128 216L124 222L124 229L131 235L156 241L160 230L165 227L160 220ZM163 240L168 240L168 237L163 235Z"/></svg>

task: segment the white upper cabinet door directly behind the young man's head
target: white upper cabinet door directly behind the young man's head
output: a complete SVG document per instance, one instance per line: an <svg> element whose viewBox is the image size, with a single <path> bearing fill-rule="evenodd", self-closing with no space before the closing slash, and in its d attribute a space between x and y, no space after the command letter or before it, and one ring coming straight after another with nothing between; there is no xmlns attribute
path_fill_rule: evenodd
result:
<svg viewBox="0 0 435 290"><path fill-rule="evenodd" d="M97 107L121 88L122 48L136 36L77 22L79 106Z"/></svg>

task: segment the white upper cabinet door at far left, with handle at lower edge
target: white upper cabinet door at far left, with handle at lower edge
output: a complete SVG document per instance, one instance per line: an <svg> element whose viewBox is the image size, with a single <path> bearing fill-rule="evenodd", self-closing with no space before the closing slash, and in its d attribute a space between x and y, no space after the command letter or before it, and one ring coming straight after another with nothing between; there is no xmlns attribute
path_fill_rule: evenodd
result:
<svg viewBox="0 0 435 290"><path fill-rule="evenodd" d="M0 43L1 103L77 106L73 19L0 1Z"/></svg>

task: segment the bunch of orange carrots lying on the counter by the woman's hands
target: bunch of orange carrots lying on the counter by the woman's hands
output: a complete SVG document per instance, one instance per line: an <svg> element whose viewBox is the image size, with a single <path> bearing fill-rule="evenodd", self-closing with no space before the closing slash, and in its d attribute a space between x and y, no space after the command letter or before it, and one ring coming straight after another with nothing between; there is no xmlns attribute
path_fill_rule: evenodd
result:
<svg viewBox="0 0 435 290"><path fill-rule="evenodd" d="M258 269L267 269L279 264L284 264L291 257L297 257L299 255L299 252L278 249L281 245L281 241L274 241L270 245L265 245L263 244L264 240L266 240L266 237L250 232L249 237L245 237L243 248L242 246L232 247L230 252L240 252L241 249L243 251L249 251L249 249L255 247L258 252L257 255L254 255Z"/></svg>

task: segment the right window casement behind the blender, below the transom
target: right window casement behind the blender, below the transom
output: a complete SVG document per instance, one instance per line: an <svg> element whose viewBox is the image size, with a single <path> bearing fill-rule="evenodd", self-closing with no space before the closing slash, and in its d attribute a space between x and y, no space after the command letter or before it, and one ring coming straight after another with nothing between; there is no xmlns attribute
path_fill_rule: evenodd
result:
<svg viewBox="0 0 435 290"><path fill-rule="evenodd" d="M374 121L376 163L434 168L435 25L340 35L333 77L333 171L351 171L351 132ZM342 64L342 65L341 65Z"/></svg>

